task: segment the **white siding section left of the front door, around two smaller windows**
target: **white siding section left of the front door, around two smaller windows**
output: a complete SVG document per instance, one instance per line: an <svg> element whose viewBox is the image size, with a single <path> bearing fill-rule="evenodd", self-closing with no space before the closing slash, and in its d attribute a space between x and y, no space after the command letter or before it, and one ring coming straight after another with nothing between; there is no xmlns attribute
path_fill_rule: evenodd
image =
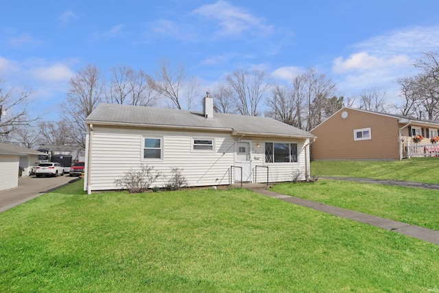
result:
<svg viewBox="0 0 439 293"><path fill-rule="evenodd" d="M91 189L117 189L114 181L130 168L141 163L154 166L161 172L153 186L164 187L171 177L171 169L179 167L190 186L227 185L230 165L233 165L233 143L230 134L173 132L159 130L93 127L91 154ZM162 160L143 159L143 138L161 137ZM214 151L193 152L193 138L211 137ZM87 142L90 138L87 137ZM88 155L88 154L87 154ZM84 183L84 190L86 185Z"/></svg>

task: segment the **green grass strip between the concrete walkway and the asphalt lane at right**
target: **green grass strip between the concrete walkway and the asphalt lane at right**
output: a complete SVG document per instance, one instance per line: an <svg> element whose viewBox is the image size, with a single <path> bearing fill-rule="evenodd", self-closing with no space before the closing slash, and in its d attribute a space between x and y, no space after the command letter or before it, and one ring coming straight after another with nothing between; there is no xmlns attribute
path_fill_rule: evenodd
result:
<svg viewBox="0 0 439 293"><path fill-rule="evenodd" d="M282 183L272 191L439 231L439 191L318 179Z"/></svg>

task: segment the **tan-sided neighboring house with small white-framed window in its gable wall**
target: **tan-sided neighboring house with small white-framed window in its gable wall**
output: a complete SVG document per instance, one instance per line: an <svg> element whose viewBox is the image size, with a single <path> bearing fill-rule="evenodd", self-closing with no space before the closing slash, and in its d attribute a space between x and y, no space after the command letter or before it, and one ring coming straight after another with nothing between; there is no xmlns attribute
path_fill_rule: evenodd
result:
<svg viewBox="0 0 439 293"><path fill-rule="evenodd" d="M410 150L422 152L438 136L439 121L342 108L311 133L318 139L311 145L312 160L384 160L410 157ZM415 141L416 135L423 141Z"/></svg>

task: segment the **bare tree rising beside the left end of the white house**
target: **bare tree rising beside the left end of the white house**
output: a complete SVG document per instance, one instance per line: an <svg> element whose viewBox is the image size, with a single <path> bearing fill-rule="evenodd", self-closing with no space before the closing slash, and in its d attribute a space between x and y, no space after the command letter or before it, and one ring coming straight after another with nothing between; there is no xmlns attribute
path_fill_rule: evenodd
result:
<svg viewBox="0 0 439 293"><path fill-rule="evenodd" d="M64 119L71 121L72 139L85 148L85 119L104 97L104 82L95 65L80 69L69 82L67 98L62 104Z"/></svg>

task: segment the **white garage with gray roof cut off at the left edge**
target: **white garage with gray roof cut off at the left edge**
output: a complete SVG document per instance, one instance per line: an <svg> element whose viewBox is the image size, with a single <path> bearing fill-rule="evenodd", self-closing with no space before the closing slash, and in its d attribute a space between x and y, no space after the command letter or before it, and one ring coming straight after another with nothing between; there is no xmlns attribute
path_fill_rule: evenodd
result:
<svg viewBox="0 0 439 293"><path fill-rule="evenodd" d="M40 154L43 153L10 143L0 143L0 190L17 187L19 167L23 168L21 176L29 176Z"/></svg>

